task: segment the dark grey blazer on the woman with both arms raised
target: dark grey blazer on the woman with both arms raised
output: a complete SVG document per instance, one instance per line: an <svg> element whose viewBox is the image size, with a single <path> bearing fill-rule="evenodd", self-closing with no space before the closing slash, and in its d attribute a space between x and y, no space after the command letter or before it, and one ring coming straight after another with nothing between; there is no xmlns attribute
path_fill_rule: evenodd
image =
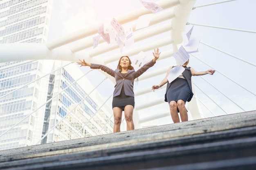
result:
<svg viewBox="0 0 256 170"><path fill-rule="evenodd" d="M146 72L150 67L152 67L156 62L153 62L151 60L150 62L143 65L139 70L128 70L127 74L125 76L122 76L121 70L112 70L108 68L107 66L100 65L100 64L92 64L92 69L101 69L102 71L108 73L110 76L115 77L116 84L115 89L113 93L113 97L118 96L121 93L121 89L124 86L124 93L126 96L132 96L134 97L133 92L133 81L135 78L139 77L141 74Z"/></svg>

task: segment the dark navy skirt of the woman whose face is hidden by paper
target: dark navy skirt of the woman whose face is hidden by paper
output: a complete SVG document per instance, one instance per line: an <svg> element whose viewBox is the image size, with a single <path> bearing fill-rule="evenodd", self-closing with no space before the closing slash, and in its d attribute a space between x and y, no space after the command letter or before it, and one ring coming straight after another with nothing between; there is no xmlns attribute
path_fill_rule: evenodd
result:
<svg viewBox="0 0 256 170"><path fill-rule="evenodd" d="M171 101L183 100L185 103L189 99L191 91L189 84L184 78L176 78L172 83L166 93L166 98L168 103Z"/></svg>

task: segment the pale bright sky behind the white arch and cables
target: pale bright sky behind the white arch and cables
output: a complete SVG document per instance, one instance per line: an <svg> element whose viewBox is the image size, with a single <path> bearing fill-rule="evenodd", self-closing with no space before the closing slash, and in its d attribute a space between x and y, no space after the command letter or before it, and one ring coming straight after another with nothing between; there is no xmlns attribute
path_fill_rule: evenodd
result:
<svg viewBox="0 0 256 170"><path fill-rule="evenodd" d="M204 71L209 68L216 70L213 76L193 76L193 82L196 84L196 95L204 102L204 105L207 105L206 108L204 105L200 104L202 112L205 113L207 117L220 116L227 113L239 113L243 112L243 110L256 110L256 96L254 95L256 94L256 76L253 74L256 72L256 67L204 45L209 44L214 48L220 49L250 63L254 63L255 65L256 54L254 49L256 33L196 25L203 24L255 32L256 11L254 8L256 7L256 1L234 0L199 7L220 1L222 0L197 0L194 5L196 8L191 11L188 20L188 22L191 23L191 25L188 25L188 28L190 28L192 24L195 24L191 36L197 37L201 41L198 46L199 52L195 52L190 56L190 66L197 71ZM148 0L146 2L157 2L157 0ZM53 3L54 6L52 8L48 41L87 28L93 23L103 22L106 18L113 18L128 11L143 7L139 0L54 0ZM157 38L161 39L166 36L170 36L170 34L165 33L159 35ZM150 55L152 52L147 52L147 54ZM209 65L205 65L198 60L198 58L209 63ZM117 63L114 64L116 65ZM171 66L171 64L173 64L173 59L170 57L170 63L159 61L159 64L154 66L152 70L161 68L163 65ZM82 71L86 72L88 69L89 68L83 68ZM154 77L151 80L139 81L135 90L146 87L148 84L150 84L150 86L159 84L164 76L165 74ZM101 77L101 75L97 74L97 77L98 78L95 78L94 74L88 75L88 78L95 85L97 85L104 76ZM254 94L249 93L240 86L243 86ZM106 89L108 89L107 92ZM98 90L107 98L113 92L113 84L110 81L106 81ZM150 96L139 96L135 98L135 107L136 102L148 100L148 97L163 97L164 92L165 89L161 89L157 92L152 92ZM230 99L233 100L233 102ZM111 102L112 98L109 101L110 105ZM234 103L237 103L240 107ZM158 111L166 109L168 109L167 103L159 105L158 107ZM209 109L213 111L215 115L213 115ZM152 111L152 108L148 108L144 109L143 113L141 111L139 114L140 118L142 118L150 114L156 114L156 112L157 111ZM145 123L144 125L153 126L171 122L171 117L167 117L155 120L154 122Z"/></svg>

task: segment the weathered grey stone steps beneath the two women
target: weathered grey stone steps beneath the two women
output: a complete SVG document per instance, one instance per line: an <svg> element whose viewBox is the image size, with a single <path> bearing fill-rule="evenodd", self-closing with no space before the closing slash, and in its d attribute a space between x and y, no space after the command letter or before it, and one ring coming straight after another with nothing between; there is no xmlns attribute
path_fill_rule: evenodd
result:
<svg viewBox="0 0 256 170"><path fill-rule="evenodd" d="M0 151L6 170L255 170L256 111Z"/></svg>

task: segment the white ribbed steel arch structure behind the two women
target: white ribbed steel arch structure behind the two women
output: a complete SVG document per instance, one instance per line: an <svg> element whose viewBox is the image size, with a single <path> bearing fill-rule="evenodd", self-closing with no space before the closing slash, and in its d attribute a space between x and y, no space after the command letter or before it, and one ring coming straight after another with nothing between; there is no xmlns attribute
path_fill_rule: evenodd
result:
<svg viewBox="0 0 256 170"><path fill-rule="evenodd" d="M115 69L111 63L117 62L121 55L134 56L140 51L153 51L160 48L161 56L157 62L162 64L161 69L149 70L139 77L139 81L148 80L153 77L164 74L170 65L170 58L178 50L178 45L182 44L182 33L186 31L188 19L193 10L196 0L159 0L157 4L164 9L152 15L149 26L146 28L135 29L138 18L142 15L152 14L145 7L141 7L134 11L115 16L117 21L122 25L132 25L135 46L125 49L120 53L117 44L107 44L102 38L99 46L93 48L92 37L98 35L97 29L103 23L97 23L88 28L76 31L72 34L59 37L45 44L34 43L15 43L0 44L0 62L17 61L17 60L63 60L77 62L79 59L85 59L89 63L100 63ZM167 33L164 39L157 38L157 35ZM147 41L148 38L154 37L155 41ZM69 45L69 46L66 46ZM104 55L104 57L102 57ZM150 58L150 57L149 57ZM99 70L101 72L101 70ZM104 72L101 72L105 74ZM106 76L114 83L114 79L108 74ZM160 79L161 79L160 78ZM152 93L151 85L159 83L153 82L144 89L135 91L135 96L141 96ZM198 99L194 92L194 97L189 105L189 112L193 119L204 118L202 111L198 105ZM135 97L136 98L136 97ZM139 102L135 105L135 116L138 111L148 107L163 104L164 98L150 98L149 101ZM135 119L135 128L140 127L140 123L170 116L168 105L165 103L166 109L154 116L147 118Z"/></svg>

